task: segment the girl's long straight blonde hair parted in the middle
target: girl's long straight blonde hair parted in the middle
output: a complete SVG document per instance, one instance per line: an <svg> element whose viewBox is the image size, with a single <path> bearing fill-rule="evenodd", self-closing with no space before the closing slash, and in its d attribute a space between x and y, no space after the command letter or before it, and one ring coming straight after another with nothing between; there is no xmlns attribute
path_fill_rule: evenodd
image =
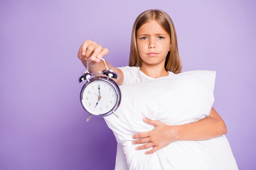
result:
<svg viewBox="0 0 256 170"><path fill-rule="evenodd" d="M181 72L182 64L181 64L181 57L178 54L178 42L177 42L177 35L176 30L174 27L173 21L171 21L170 16L159 9L150 9L144 11L143 13L139 14L139 16L134 21L134 25L132 28L132 40L131 40L131 47L130 47L130 55L129 55L129 66L134 67L141 67L142 66L142 59L139 57L139 52L137 48L137 30L142 27L144 23L147 23L151 20L155 20L158 22L163 28L166 30L167 33L170 35L171 39L171 51L168 52L166 56L166 62L164 67L166 71L174 72L175 74Z"/></svg>

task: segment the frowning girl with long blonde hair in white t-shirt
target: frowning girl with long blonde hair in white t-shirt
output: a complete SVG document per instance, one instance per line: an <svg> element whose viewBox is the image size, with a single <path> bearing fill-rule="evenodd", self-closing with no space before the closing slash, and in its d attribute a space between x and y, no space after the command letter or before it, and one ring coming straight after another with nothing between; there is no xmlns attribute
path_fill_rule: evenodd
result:
<svg viewBox="0 0 256 170"><path fill-rule="evenodd" d="M105 69L100 58L107 53L107 48L97 42L86 40L79 49L78 57L85 67L87 61L91 60L90 71L97 76L97 72ZM148 10L141 13L132 29L129 66L115 68L108 62L107 66L113 68L119 75L119 79L114 80L119 86L181 73L176 30L169 15L161 10ZM211 109L207 118L186 125L166 125L158 120L146 118L143 121L154 125L154 130L135 134L132 137L134 139L132 144L140 144L136 148L138 150L152 148L145 154L152 154L174 141L209 140L227 133L225 123L214 108ZM116 169L127 169L124 159L122 149L117 146Z"/></svg>

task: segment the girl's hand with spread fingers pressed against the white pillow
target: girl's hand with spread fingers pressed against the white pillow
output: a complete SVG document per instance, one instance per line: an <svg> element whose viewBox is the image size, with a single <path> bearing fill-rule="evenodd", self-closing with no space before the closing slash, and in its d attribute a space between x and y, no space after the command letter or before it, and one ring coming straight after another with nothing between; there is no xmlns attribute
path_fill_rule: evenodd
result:
<svg viewBox="0 0 256 170"><path fill-rule="evenodd" d="M136 147L137 150L153 147L153 149L145 152L145 154L152 154L178 139L178 126L166 125L159 120L150 120L147 118L143 118L143 121L149 125L154 125L154 130L141 132L132 136L133 139L139 138L139 140L134 140L132 142L133 145L145 143L145 145Z"/></svg>

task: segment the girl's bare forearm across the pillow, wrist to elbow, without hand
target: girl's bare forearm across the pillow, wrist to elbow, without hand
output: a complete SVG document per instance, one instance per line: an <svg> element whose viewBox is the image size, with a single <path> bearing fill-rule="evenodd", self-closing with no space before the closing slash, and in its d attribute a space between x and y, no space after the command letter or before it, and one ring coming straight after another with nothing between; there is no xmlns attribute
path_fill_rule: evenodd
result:
<svg viewBox="0 0 256 170"><path fill-rule="evenodd" d="M176 140L209 140L227 133L227 128L220 115L212 108L207 118L198 120L195 123L177 125Z"/></svg>

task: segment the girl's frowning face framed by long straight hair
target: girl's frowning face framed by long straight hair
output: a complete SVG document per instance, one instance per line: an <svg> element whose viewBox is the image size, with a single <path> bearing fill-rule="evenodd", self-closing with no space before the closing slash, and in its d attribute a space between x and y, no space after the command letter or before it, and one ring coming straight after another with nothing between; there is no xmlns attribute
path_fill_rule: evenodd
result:
<svg viewBox="0 0 256 170"><path fill-rule="evenodd" d="M159 23L151 20L137 30L137 47L142 67L158 65L164 67L166 56L171 49L169 34Z"/></svg>

